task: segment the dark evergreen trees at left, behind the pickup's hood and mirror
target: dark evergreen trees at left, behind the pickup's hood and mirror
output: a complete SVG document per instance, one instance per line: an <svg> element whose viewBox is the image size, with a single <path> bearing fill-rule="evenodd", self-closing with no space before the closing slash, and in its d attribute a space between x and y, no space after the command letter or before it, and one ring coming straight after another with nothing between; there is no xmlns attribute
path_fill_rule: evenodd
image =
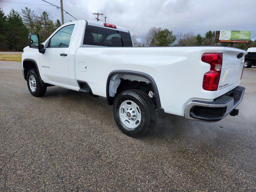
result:
<svg viewBox="0 0 256 192"><path fill-rule="evenodd" d="M22 51L28 46L28 34L38 33L40 40L45 41L59 26L60 21L52 21L46 10L22 9L21 13L10 10L6 16L0 7L0 50Z"/></svg>

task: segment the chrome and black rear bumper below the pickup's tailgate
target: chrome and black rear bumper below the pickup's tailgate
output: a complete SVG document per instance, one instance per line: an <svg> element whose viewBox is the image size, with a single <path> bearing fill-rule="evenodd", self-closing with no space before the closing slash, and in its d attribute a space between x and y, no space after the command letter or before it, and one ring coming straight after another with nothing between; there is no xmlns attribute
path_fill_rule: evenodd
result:
<svg viewBox="0 0 256 192"><path fill-rule="evenodd" d="M187 119L216 122L230 114L243 100L245 88L238 86L213 102L192 100L185 108Z"/></svg>

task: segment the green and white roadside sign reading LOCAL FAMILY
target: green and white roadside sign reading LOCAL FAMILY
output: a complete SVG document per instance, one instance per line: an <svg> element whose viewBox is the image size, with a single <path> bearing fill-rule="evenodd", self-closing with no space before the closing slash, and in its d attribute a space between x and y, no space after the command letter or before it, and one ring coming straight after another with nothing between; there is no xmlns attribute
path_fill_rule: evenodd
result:
<svg viewBox="0 0 256 192"><path fill-rule="evenodd" d="M219 42L248 43L250 37L250 31L220 30Z"/></svg>

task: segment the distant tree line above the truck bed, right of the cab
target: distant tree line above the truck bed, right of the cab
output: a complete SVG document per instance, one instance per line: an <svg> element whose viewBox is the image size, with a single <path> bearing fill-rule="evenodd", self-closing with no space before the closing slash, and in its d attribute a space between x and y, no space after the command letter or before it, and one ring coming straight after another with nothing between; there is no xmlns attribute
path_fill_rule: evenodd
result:
<svg viewBox="0 0 256 192"><path fill-rule="evenodd" d="M173 34L168 29L162 29L160 27L152 27L148 30L145 38L141 41L138 40L136 35L132 35L134 46L137 47L150 47L150 46L230 46L230 43L215 43L215 32L209 30L202 36L200 33L195 35L194 32L188 32L182 34L182 32ZM234 47L247 50L250 47L256 47L256 40L249 40L249 43L236 43Z"/></svg>

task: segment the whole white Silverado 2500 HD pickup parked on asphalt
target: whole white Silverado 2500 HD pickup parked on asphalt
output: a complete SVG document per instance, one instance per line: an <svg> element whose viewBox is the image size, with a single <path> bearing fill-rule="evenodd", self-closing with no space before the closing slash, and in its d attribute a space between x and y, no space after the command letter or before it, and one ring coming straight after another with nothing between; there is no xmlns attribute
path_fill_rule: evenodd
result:
<svg viewBox="0 0 256 192"><path fill-rule="evenodd" d="M162 112L206 122L235 116L243 99L241 49L132 47L125 28L86 20L60 26L43 44L29 38L22 73L33 96L60 86L105 97L128 136L144 135Z"/></svg>

